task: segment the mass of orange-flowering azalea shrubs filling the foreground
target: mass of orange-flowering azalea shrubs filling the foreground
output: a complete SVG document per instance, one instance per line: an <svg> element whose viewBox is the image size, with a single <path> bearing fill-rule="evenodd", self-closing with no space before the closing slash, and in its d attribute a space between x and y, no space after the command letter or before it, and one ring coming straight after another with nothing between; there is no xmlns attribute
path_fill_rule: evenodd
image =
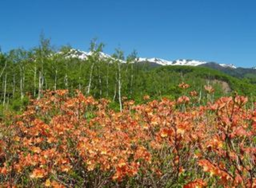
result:
<svg viewBox="0 0 256 188"><path fill-rule="evenodd" d="M0 186L256 186L256 110L246 97L149 99L115 112L79 91L46 92L0 124Z"/></svg>

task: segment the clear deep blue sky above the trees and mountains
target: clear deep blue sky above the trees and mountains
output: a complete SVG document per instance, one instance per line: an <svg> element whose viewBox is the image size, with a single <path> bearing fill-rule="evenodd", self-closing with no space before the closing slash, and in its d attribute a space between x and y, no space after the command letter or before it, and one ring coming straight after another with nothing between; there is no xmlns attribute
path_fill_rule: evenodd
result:
<svg viewBox="0 0 256 188"><path fill-rule="evenodd" d="M38 45L256 66L256 0L0 0L2 51Z"/></svg>

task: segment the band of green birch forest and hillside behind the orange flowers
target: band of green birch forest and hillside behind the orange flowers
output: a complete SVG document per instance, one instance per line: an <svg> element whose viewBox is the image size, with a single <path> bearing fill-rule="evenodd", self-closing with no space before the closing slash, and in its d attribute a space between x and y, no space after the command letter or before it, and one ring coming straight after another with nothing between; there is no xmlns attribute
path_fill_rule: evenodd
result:
<svg viewBox="0 0 256 188"><path fill-rule="evenodd" d="M71 47L55 50L50 40L42 36L39 46L29 51L14 49L0 53L1 109L20 110L29 97L39 99L43 91L57 89L71 92L79 89L86 96L107 98L120 110L122 97L137 102L144 95L176 99L195 90L203 99L206 97L204 85L209 84L215 89L212 97L220 97L230 91L247 96L256 94L256 85L250 79L237 79L204 67L153 67L147 63L133 63L136 62L136 51L125 58L117 49L113 54L115 59L101 58L103 47L103 44L96 45L92 41L91 55L81 60L70 58L75 53ZM190 85L187 93L178 87L181 82Z"/></svg>

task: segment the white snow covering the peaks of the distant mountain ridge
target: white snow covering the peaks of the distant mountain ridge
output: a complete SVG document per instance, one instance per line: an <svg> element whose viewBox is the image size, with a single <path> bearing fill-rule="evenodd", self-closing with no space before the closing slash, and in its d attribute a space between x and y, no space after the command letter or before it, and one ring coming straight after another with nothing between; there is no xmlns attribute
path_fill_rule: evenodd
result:
<svg viewBox="0 0 256 188"><path fill-rule="evenodd" d="M60 52L61 53L61 52ZM92 55L93 52L85 52L79 49L70 49L69 52L65 53L66 57L68 58L78 58L81 60L86 60L88 59L88 56ZM105 54L104 52L99 52L99 57L102 59L112 59L115 60L115 58L113 58L112 56ZM126 63L126 61L121 60L122 63ZM204 65L207 64L209 62L206 61L199 61L199 60L187 60L187 59L179 59L179 60L174 60L174 61L169 61L169 60L164 60L164 59L160 59L160 58L142 58L139 57L137 58L137 60L135 61L137 63L153 63L156 65L184 65L184 66L199 66L199 65ZM231 68L231 69L236 69L236 66L232 65L232 64L218 64L221 67L224 68Z"/></svg>

